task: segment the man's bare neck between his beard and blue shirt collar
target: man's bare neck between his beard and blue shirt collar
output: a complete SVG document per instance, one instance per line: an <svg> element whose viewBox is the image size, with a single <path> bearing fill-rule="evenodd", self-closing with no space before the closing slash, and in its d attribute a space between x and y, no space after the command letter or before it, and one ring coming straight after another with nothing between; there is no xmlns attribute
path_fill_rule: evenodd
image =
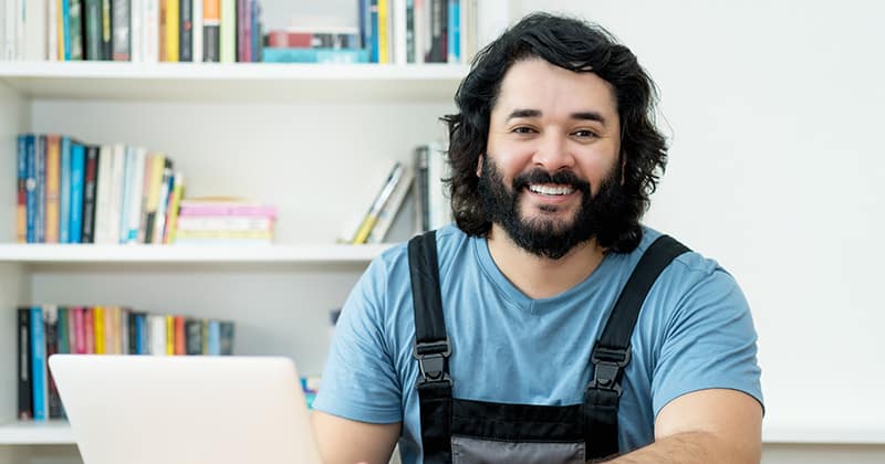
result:
<svg viewBox="0 0 885 464"><path fill-rule="evenodd" d="M513 242L498 224L489 232L489 253L504 276L530 298L549 298L580 284L605 255L595 240L582 243L559 259L531 254Z"/></svg>

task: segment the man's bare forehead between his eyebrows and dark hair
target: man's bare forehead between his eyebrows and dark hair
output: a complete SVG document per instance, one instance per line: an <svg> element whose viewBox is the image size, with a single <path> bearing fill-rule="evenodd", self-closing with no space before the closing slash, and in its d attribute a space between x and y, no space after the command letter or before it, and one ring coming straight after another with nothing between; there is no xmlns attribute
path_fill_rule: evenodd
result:
<svg viewBox="0 0 885 464"><path fill-rule="evenodd" d="M492 114L516 108L544 115L594 110L615 120L617 116L611 84L594 73L575 73L541 59L519 61L504 74Z"/></svg>

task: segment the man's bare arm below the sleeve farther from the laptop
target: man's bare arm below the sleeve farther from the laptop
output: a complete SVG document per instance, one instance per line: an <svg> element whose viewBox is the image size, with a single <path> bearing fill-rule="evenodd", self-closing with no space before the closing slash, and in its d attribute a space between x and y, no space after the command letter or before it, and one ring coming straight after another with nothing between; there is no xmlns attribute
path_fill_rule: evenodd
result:
<svg viewBox="0 0 885 464"><path fill-rule="evenodd" d="M758 464L762 407L747 393L711 389L684 394L655 420L655 442L611 464Z"/></svg>

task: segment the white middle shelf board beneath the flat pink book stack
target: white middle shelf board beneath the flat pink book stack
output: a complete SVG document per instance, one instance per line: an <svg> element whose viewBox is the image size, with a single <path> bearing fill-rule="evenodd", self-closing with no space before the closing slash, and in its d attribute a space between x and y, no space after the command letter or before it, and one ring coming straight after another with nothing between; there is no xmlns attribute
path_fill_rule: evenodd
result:
<svg viewBox="0 0 885 464"><path fill-rule="evenodd" d="M371 245L91 245L0 244L12 263L368 263L389 243Z"/></svg>

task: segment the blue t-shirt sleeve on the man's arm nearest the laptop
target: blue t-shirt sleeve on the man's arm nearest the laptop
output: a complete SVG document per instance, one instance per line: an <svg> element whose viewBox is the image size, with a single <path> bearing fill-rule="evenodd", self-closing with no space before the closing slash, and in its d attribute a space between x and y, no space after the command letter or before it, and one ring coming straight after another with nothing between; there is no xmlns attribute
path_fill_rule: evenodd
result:
<svg viewBox="0 0 885 464"><path fill-rule="evenodd" d="M378 259L344 303L314 409L361 422L403 420L399 381L385 341L385 287L386 266Z"/></svg>

